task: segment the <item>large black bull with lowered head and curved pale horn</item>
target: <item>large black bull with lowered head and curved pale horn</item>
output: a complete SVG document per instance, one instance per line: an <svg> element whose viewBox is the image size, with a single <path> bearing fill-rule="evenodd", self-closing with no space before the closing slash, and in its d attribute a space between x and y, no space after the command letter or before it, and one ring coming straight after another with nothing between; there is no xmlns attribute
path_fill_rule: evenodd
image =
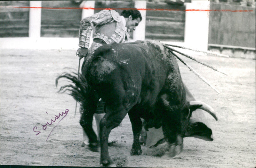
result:
<svg viewBox="0 0 256 168"><path fill-rule="evenodd" d="M133 132L131 155L142 153L140 118L146 121L145 129L162 126L171 157L182 151L192 111L202 108L216 118L204 103L187 101L176 59L160 42L136 41L101 46L86 60L80 79L64 74L56 82L62 77L75 83L75 86L66 85L60 90L71 87L68 89L71 95L81 103L80 124L92 150L98 145L92 117L99 98L105 101L106 115L100 121L100 163L104 166L113 164L108 154L109 133L127 113Z"/></svg>

